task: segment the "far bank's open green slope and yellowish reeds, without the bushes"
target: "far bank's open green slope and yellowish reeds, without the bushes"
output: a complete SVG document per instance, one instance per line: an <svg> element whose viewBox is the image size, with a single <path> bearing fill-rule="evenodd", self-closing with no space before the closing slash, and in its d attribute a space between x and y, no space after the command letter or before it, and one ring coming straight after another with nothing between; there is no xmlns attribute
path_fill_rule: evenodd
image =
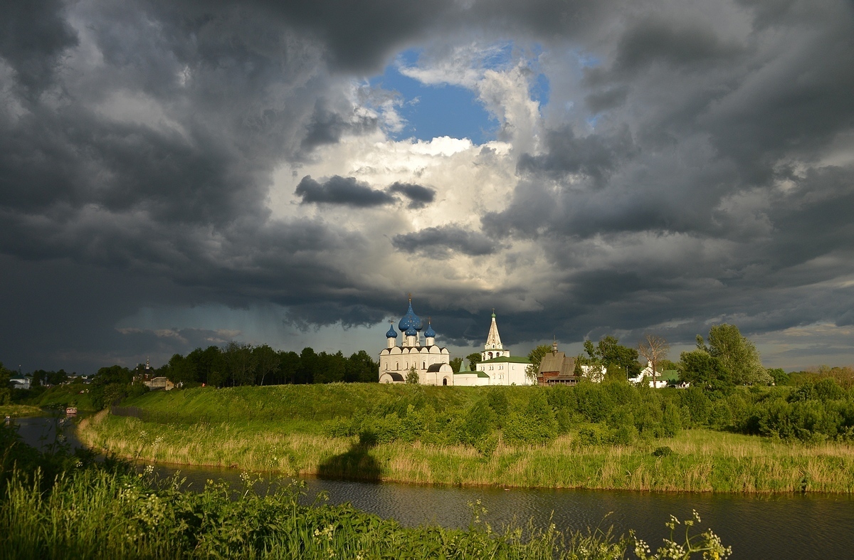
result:
<svg viewBox="0 0 854 560"><path fill-rule="evenodd" d="M449 390L450 389L450 390ZM521 406L531 388L515 393ZM474 446L394 440L371 444L332 437L332 418L399 411L412 402L436 410L471 406L478 388L355 385L193 389L145 394L79 426L87 445L122 458L418 484L583 487L690 492L854 492L854 447L804 446L709 429L623 446L579 446L576 430L546 445ZM659 447L669 454L654 454ZM666 451L666 450L665 450Z"/></svg>

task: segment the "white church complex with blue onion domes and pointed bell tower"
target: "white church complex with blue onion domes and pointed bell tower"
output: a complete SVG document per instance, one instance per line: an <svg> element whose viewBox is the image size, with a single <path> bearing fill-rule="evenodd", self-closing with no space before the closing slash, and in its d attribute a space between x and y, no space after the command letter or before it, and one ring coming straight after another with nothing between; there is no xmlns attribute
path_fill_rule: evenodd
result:
<svg viewBox="0 0 854 560"><path fill-rule="evenodd" d="M379 382L404 383L407 375L414 369L418 382L422 385L531 385L525 375L529 361L511 356L509 350L501 345L495 312L492 324L481 353L483 361L477 364L477 370L471 371L468 361L463 359L459 372L451 369L451 354L447 348L436 345L436 331L430 321L424 330L424 346L421 345L421 330L424 322L412 311L412 297L409 298L407 314L397 324L402 333L401 346L397 346L397 332L394 324L387 332L386 347L379 353Z"/></svg>

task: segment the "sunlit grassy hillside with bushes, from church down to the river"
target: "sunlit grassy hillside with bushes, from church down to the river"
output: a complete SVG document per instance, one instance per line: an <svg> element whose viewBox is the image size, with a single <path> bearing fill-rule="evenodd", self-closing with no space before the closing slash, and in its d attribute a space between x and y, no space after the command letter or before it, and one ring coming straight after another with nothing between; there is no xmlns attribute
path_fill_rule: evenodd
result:
<svg viewBox="0 0 854 560"><path fill-rule="evenodd" d="M615 391L629 404L608 405L605 397ZM79 435L87 445L125 458L288 475L518 487L854 492L850 444L805 446L699 428L668 437L660 431L667 422L662 410L672 403L657 395L626 388L377 384L202 388L145 394L126 403L143 419L102 412L81 423ZM536 405L546 397L576 401L564 403L569 408L555 405L557 415L546 406L552 416L538 417ZM495 414L493 408L502 406L503 413ZM578 412L585 406L588 417ZM589 415L608 406L611 417L591 422ZM566 410L575 412L555 419ZM670 421L680 422L678 416ZM478 431L483 426L489 429ZM519 439L519 426L534 439L549 429L554 436L531 445ZM634 431L621 440L624 428Z"/></svg>

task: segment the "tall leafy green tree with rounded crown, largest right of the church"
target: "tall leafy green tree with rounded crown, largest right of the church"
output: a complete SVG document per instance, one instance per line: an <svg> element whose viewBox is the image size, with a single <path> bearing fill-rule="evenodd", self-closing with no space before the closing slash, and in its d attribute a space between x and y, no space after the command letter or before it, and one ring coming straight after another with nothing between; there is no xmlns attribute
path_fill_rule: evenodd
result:
<svg viewBox="0 0 854 560"><path fill-rule="evenodd" d="M701 343L698 337L698 345ZM756 345L734 324L716 324L709 330L708 352L721 360L736 385L769 385L773 381L762 366Z"/></svg>

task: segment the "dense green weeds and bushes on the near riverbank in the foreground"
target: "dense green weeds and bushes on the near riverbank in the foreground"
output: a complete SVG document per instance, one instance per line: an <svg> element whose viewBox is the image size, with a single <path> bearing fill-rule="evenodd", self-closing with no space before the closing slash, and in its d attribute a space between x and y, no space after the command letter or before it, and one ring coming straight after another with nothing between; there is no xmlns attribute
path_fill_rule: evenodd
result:
<svg viewBox="0 0 854 560"><path fill-rule="evenodd" d="M7 440L15 440L3 428ZM11 435L9 435L11 434ZM17 443L17 442L15 442ZM191 492L178 476L156 481L147 469L129 464L94 464L67 452L46 454L13 447L11 470L0 494L0 557L3 558L623 558L634 535L617 538L611 530L588 530L564 537L550 524L494 532L481 519L486 510L472 504L467 529L405 528L394 520L329 505L323 499L301 505L300 483L260 480L243 475L243 487L208 481ZM26 455L28 470L17 464ZM57 461L60 456L60 461ZM52 482L40 462L68 464ZM35 470L29 470L36 465ZM696 542L693 542L696 541ZM686 533L686 543L652 554L634 539L644 558L690 558L693 552L726 557L710 532ZM681 552L676 556L676 552Z"/></svg>

